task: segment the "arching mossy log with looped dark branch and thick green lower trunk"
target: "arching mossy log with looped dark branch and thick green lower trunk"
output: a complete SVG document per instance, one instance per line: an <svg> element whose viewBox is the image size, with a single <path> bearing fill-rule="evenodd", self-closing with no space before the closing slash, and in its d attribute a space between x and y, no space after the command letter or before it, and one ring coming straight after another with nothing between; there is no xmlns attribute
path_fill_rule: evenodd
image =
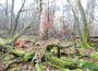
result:
<svg viewBox="0 0 98 71"><path fill-rule="evenodd" d="M51 49L56 47L58 49L58 57L60 57L60 49L62 48L69 48L72 47L72 45L69 46L61 46L61 45L56 45L56 44L50 44L47 46L44 58L46 59L45 61L57 69L78 69L79 67L77 66L77 62L74 60L68 59L68 58L58 58L52 55Z"/></svg>

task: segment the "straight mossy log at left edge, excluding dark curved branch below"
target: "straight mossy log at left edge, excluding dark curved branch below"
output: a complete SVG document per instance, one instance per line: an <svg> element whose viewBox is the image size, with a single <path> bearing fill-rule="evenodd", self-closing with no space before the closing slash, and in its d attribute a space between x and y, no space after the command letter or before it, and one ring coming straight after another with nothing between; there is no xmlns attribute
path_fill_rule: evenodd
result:
<svg viewBox="0 0 98 71"><path fill-rule="evenodd" d="M10 55L13 55L16 58L21 57L24 61L32 61L35 55L34 52L25 52L24 50L21 49L12 49L10 47L3 47L3 46L0 46L0 51L9 52Z"/></svg>

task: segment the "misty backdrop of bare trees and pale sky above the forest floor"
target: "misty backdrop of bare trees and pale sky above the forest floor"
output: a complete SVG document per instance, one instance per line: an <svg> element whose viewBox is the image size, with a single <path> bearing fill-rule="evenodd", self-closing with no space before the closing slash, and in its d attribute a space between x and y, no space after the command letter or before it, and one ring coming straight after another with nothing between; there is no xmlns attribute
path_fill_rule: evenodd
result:
<svg viewBox="0 0 98 71"><path fill-rule="evenodd" d="M90 35L98 35L98 1L82 0ZM0 35L8 37L19 33L27 24L26 35L53 36L70 38L78 36L72 7L78 19L81 32L84 28L83 17L76 0L0 0Z"/></svg>

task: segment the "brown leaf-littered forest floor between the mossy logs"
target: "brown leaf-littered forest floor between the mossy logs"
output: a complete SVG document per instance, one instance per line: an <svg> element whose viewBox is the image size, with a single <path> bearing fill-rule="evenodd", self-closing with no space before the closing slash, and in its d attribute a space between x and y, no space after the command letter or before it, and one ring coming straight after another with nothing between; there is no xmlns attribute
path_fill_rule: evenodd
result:
<svg viewBox="0 0 98 71"><path fill-rule="evenodd" d="M20 49L20 50L24 50L25 52L35 52L37 55L37 57L40 59L46 50L47 45L49 44L58 44L58 45L62 45L62 46L69 46L69 45L73 45L73 40L64 40L64 39L58 39L58 38L51 38L48 40L40 40L37 38L27 38L27 37L22 37L20 38L21 40L25 42L22 45L17 45L14 47L14 49ZM78 46L78 45L77 45ZM56 49L54 49L56 50ZM72 54L74 54L74 47L70 47L70 48L65 48L62 50L62 56L63 57L69 57ZM85 54L85 55L89 55L95 52L95 49L79 49L81 54ZM74 58L77 58L77 56L74 56ZM94 61L94 60L89 60L86 57L82 58L82 59L86 59L88 61ZM2 71L3 69L5 69L11 62L13 62L14 57L12 55L9 54L3 54L0 52L0 71ZM57 69L51 68L50 66L47 66L46 63L44 63L44 69L45 71L57 71ZM30 62L22 62L19 64L12 64L10 67L10 69L8 71L35 71L34 64ZM71 70L71 71L75 71L75 70Z"/></svg>

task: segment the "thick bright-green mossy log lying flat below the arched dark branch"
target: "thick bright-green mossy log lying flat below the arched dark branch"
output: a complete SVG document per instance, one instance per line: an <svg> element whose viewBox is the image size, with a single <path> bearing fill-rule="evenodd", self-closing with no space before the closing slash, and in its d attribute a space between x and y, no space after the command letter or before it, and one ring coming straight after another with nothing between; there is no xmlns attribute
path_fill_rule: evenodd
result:
<svg viewBox="0 0 98 71"><path fill-rule="evenodd" d="M62 59L62 58L57 58L53 56L47 57L47 62L57 69L77 69L79 68L77 63L71 59Z"/></svg>

